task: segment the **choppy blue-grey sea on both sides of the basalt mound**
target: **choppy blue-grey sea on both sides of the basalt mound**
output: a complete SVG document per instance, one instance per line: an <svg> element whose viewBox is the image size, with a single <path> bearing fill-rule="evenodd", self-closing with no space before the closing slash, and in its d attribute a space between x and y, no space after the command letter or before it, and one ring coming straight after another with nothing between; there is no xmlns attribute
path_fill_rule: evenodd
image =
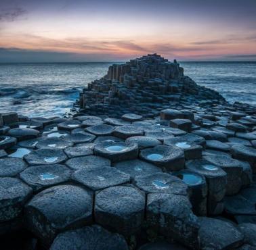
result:
<svg viewBox="0 0 256 250"><path fill-rule="evenodd" d="M0 64L0 113L62 116L79 91L104 76L112 63ZM228 101L256 105L256 62L181 62L196 83Z"/></svg>

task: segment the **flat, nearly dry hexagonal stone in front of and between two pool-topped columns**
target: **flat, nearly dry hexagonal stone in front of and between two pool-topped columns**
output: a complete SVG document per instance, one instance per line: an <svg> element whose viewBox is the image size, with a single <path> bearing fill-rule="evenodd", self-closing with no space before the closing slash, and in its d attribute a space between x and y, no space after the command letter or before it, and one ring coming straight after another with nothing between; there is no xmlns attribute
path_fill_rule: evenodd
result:
<svg viewBox="0 0 256 250"><path fill-rule="evenodd" d="M146 174L162 172L161 168L158 168L153 164L149 164L148 162L141 161L140 159L120 161L114 164L114 167L120 170L121 172L129 174L132 179L134 179L135 176L143 176Z"/></svg>

